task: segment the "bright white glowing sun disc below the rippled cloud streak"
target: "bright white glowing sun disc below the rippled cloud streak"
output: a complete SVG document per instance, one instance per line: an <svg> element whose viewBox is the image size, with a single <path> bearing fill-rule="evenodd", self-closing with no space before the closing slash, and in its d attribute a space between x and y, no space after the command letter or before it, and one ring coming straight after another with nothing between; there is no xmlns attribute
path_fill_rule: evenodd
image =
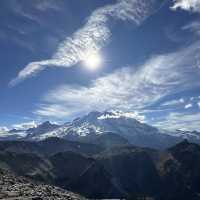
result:
<svg viewBox="0 0 200 200"><path fill-rule="evenodd" d="M88 69L97 70L102 64L102 58L98 52L88 52L84 56L83 62Z"/></svg>

